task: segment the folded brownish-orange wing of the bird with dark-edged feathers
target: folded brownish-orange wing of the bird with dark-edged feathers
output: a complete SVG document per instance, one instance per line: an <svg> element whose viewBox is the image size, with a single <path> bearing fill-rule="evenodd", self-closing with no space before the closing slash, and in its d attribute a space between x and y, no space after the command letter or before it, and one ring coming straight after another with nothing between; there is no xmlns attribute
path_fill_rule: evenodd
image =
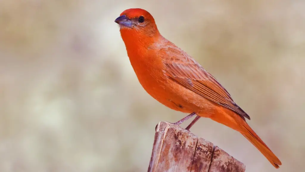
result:
<svg viewBox="0 0 305 172"><path fill-rule="evenodd" d="M175 46L167 47L165 51L166 55L170 56L164 61L167 77L206 99L234 111L244 120L244 117L250 120L249 115L234 103L228 91L193 58Z"/></svg>

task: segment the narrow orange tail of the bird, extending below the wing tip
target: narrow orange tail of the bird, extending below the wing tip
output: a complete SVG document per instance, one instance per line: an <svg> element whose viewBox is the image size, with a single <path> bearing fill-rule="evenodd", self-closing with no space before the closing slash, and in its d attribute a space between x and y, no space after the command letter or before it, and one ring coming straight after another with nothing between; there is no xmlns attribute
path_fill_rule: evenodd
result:
<svg viewBox="0 0 305 172"><path fill-rule="evenodd" d="M281 161L274 155L274 153L268 148L268 146L260 139L260 137L251 129L251 127L244 122L245 125L242 125L243 130L240 131L243 136L245 136L275 167L279 168L279 165L282 165Z"/></svg>

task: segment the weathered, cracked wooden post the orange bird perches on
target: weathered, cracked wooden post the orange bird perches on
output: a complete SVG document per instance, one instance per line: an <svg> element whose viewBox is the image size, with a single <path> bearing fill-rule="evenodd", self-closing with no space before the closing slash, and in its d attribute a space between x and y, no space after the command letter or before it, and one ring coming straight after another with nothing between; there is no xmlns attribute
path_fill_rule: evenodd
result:
<svg viewBox="0 0 305 172"><path fill-rule="evenodd" d="M246 166L213 143L168 122L156 126L148 172L244 172Z"/></svg>

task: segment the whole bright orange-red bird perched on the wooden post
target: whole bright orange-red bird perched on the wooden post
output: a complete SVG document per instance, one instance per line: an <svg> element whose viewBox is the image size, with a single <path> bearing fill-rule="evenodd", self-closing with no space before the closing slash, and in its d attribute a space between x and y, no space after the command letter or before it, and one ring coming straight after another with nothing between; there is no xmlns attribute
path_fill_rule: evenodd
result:
<svg viewBox="0 0 305 172"><path fill-rule="evenodd" d="M275 168L282 165L247 124L249 115L210 73L159 33L149 12L127 9L115 22L131 65L149 95L173 110L211 118L239 131Z"/></svg>

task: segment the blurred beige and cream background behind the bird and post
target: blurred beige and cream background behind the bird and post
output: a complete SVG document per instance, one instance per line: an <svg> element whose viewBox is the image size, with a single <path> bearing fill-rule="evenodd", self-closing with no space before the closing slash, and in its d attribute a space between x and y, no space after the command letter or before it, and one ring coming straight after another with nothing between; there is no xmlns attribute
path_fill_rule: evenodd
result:
<svg viewBox="0 0 305 172"><path fill-rule="evenodd" d="M1 0L1 172L147 171L156 124L186 114L139 84L114 22L128 8L217 78L283 165L210 119L194 134L247 172L302 171L305 1Z"/></svg>

